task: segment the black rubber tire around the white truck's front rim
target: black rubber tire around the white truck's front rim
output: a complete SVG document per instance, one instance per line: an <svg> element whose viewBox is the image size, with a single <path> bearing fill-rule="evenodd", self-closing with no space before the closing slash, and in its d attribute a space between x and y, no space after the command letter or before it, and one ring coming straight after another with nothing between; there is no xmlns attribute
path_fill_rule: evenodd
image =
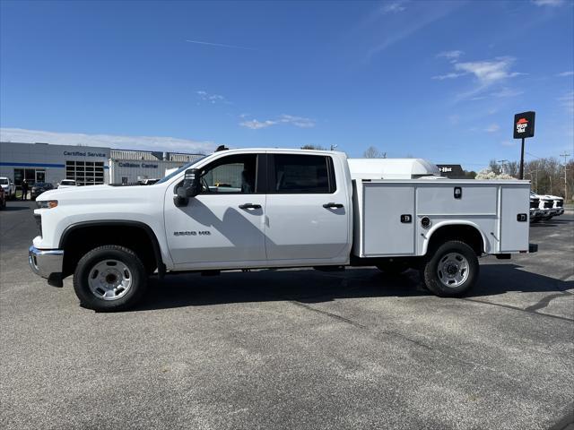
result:
<svg viewBox="0 0 574 430"><path fill-rule="evenodd" d="M91 292L88 277L94 266L106 260L122 262L129 270L131 283L126 293L105 300ZM97 272L96 272L97 273ZM139 257L130 249L119 245L103 245L84 254L74 271L74 290L80 304L94 311L123 311L134 306L147 288L147 271Z"/></svg>

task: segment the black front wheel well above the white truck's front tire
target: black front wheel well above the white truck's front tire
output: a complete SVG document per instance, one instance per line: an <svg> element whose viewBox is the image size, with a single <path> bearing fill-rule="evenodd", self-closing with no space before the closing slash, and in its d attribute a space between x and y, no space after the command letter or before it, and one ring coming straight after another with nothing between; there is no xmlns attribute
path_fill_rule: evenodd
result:
<svg viewBox="0 0 574 430"><path fill-rule="evenodd" d="M126 246L152 273L161 264L157 239L152 235L143 226L123 224L78 226L66 230L60 244L60 249L64 250L63 276L74 273L83 255L101 245Z"/></svg>

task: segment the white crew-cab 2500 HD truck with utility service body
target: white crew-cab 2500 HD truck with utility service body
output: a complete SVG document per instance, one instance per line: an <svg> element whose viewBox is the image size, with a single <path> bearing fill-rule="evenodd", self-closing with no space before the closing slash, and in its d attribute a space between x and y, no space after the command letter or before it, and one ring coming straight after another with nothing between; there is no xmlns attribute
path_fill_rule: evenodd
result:
<svg viewBox="0 0 574 430"><path fill-rule="evenodd" d="M414 268L454 297L476 282L477 257L535 252L528 181L430 180L438 169L421 160L404 176L393 161L351 164L335 151L220 150L154 185L48 191L30 267L58 287L73 274L83 306L114 310L156 271Z"/></svg>

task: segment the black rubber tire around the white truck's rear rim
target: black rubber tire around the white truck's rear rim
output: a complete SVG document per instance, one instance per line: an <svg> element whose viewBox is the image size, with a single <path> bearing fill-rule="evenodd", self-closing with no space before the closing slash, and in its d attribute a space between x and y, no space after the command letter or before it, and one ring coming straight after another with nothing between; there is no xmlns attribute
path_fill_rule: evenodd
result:
<svg viewBox="0 0 574 430"><path fill-rule="evenodd" d="M439 267L442 269L444 260L448 258L448 254L458 254L465 258L467 263L466 278L460 285L447 286L439 276ZM468 290L474 287L478 280L480 266L478 258L474 253L474 249L464 242L458 240L450 240L442 245L439 245L435 251L430 252L430 259L424 265L422 275L426 288L439 297L460 297ZM442 273L442 271L440 271ZM443 276L443 278L446 278Z"/></svg>

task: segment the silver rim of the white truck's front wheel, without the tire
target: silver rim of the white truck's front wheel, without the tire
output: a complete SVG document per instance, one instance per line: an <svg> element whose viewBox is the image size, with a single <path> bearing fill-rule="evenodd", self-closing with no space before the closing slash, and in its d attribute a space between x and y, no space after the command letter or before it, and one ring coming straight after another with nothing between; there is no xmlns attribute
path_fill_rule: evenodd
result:
<svg viewBox="0 0 574 430"><path fill-rule="evenodd" d="M117 300L132 288L132 272L119 260L97 262L88 275L91 294L102 300Z"/></svg>

